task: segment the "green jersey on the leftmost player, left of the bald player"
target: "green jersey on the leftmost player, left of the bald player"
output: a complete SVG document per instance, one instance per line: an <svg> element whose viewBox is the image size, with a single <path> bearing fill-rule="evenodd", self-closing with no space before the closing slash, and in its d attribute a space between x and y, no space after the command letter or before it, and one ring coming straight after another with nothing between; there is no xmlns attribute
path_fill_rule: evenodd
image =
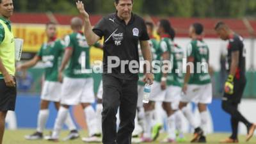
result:
<svg viewBox="0 0 256 144"><path fill-rule="evenodd" d="M44 62L45 80L58 81L58 67L61 63L61 56L65 45L61 40L42 44L37 55Z"/></svg>

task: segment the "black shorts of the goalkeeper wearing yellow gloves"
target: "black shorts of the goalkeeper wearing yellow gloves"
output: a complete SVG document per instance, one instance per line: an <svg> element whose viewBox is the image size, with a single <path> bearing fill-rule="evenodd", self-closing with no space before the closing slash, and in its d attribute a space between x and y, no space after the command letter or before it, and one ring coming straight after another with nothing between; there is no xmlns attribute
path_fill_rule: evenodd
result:
<svg viewBox="0 0 256 144"><path fill-rule="evenodd" d="M241 79L234 79L234 93L232 95L224 93L223 100L228 100L229 102L235 102L239 104L243 97L245 85L246 85L245 77Z"/></svg>

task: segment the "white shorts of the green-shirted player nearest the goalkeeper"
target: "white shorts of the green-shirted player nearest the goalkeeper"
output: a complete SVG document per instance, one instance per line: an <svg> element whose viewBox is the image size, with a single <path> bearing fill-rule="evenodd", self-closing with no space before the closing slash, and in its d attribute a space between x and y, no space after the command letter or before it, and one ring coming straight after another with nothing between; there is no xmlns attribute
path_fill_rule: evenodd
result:
<svg viewBox="0 0 256 144"><path fill-rule="evenodd" d="M182 102L195 102L196 104L211 104L212 84L188 84L186 95L182 95Z"/></svg>

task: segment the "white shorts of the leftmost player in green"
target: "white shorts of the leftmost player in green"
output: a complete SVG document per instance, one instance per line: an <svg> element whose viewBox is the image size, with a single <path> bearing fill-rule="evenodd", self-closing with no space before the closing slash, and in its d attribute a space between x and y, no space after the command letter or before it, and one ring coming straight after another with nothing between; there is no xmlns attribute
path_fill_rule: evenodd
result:
<svg viewBox="0 0 256 144"><path fill-rule="evenodd" d="M41 99L51 102L60 102L61 83L55 81L44 81Z"/></svg>

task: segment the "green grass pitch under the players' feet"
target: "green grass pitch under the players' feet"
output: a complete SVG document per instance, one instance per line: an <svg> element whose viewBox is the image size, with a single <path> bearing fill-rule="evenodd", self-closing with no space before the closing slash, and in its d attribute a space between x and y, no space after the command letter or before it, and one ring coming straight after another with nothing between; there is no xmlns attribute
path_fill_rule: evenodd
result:
<svg viewBox="0 0 256 144"><path fill-rule="evenodd" d="M17 130L17 131L6 131L4 134L4 141L3 144L51 144L56 142L50 142L45 140L35 140L35 141L28 141L24 139L24 135L31 134L34 130ZM47 133L46 133L47 134ZM67 136L68 131L61 132L61 138L64 138ZM86 136L85 132L80 132L81 136ZM165 134L161 134L161 140L164 137ZM228 134L210 134L207 136L207 143L211 144L217 144L218 141L223 140L227 138ZM186 134L186 140L188 142L185 142L183 144L189 143L189 140L191 138L191 134ZM60 144L82 144L84 143L81 141L81 139L73 140L73 141L59 141ZM154 143L159 143L159 141L156 141ZM245 136L239 136L239 143L241 144L256 144L256 136L254 136L248 143L245 142ZM96 144L96 143L92 143ZM153 143L152 143L153 144Z"/></svg>

